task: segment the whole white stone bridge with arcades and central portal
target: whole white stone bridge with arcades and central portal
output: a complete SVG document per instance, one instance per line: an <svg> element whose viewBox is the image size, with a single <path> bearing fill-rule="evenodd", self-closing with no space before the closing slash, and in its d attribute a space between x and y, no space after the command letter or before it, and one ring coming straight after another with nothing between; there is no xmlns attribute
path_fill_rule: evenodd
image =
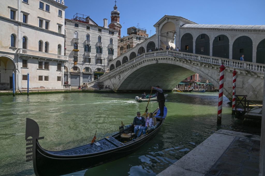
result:
<svg viewBox="0 0 265 176"><path fill-rule="evenodd" d="M265 25L199 25L165 15L154 27L155 35L110 61L109 72L90 85L103 82L116 92L147 91L160 85L170 91L198 73L219 87L219 67L223 63L225 96L232 97L235 69L236 94L263 100ZM166 46L180 47L181 52L165 50ZM152 52L148 52L150 49ZM240 61L241 55L244 61Z"/></svg>

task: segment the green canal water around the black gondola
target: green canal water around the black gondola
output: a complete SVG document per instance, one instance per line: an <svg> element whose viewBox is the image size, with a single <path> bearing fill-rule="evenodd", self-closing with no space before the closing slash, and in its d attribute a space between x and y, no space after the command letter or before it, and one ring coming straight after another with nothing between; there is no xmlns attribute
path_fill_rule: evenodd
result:
<svg viewBox="0 0 265 176"><path fill-rule="evenodd" d="M222 125L217 125L218 93L168 93L168 114L158 135L135 153L122 159L72 175L153 176L169 167L219 129L260 135L260 129L240 125L223 100ZM0 97L0 175L34 175L26 163L26 118L37 121L40 144L47 150L65 150L118 131L121 121L133 122L144 112L140 94L64 93ZM158 107L150 102L149 111Z"/></svg>

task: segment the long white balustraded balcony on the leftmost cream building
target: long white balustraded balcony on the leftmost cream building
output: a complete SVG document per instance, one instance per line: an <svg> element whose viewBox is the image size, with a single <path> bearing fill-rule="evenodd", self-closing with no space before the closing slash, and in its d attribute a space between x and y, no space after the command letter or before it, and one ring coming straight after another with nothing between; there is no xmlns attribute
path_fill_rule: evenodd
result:
<svg viewBox="0 0 265 176"><path fill-rule="evenodd" d="M58 60L58 61L68 61L68 57L67 56L56 55L56 54L40 52L40 51L33 51L33 50L23 49L23 48L19 48L17 50L17 54L19 56L36 57L36 58L43 58L43 59L49 59L49 60Z"/></svg>

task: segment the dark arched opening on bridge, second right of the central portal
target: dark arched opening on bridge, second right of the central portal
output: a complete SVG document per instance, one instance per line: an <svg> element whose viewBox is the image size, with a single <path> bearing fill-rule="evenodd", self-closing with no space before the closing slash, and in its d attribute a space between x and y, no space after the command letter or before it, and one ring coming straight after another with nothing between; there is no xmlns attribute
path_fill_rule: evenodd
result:
<svg viewBox="0 0 265 176"><path fill-rule="evenodd" d="M210 56L210 38L207 34L201 34L196 38L195 54Z"/></svg>

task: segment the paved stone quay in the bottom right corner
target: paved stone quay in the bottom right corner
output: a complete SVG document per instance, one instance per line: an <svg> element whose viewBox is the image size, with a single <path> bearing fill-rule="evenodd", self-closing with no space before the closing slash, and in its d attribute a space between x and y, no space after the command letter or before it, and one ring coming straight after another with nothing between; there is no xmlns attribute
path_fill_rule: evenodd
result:
<svg viewBox="0 0 265 176"><path fill-rule="evenodd" d="M158 176L259 176L260 136L218 130Z"/></svg>

